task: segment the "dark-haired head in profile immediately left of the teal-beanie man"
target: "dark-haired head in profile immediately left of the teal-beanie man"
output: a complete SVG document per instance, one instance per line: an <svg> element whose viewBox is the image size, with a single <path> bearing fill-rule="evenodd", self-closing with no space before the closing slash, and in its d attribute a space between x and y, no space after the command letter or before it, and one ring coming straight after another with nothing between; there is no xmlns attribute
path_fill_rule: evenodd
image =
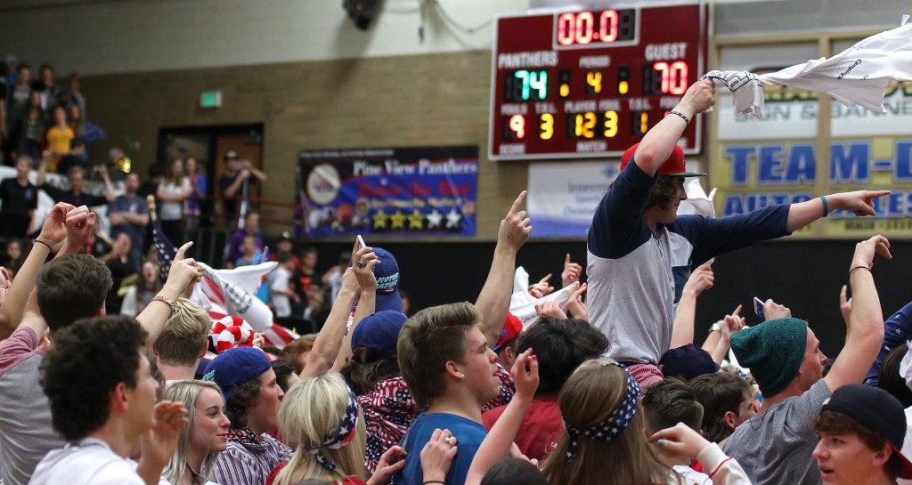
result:
<svg viewBox="0 0 912 485"><path fill-rule="evenodd" d="M690 387L703 406L703 436L720 446L754 414L751 383L737 374L704 374L694 377Z"/></svg>

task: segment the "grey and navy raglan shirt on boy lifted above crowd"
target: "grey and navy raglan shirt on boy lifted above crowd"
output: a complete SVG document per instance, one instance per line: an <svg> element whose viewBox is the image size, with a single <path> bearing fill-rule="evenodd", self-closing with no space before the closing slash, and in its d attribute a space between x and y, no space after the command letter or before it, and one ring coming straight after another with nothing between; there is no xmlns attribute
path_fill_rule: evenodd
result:
<svg viewBox="0 0 912 485"><path fill-rule="evenodd" d="M656 364L668 350L673 306L693 268L789 234L787 204L720 218L682 215L653 233L643 211L657 181L630 160L589 228L589 322L608 339L605 356L621 362Z"/></svg>

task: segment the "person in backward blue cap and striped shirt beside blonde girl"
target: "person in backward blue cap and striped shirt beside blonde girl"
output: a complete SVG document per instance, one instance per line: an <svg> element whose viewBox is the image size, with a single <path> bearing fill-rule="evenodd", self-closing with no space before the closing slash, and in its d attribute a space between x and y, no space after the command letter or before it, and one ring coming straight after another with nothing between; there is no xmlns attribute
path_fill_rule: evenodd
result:
<svg viewBox="0 0 912 485"><path fill-rule="evenodd" d="M206 367L204 380L222 389L231 428L228 448L219 454L212 477L221 485L263 485L292 450L268 433L278 428L280 399L285 396L263 351L237 347Z"/></svg>

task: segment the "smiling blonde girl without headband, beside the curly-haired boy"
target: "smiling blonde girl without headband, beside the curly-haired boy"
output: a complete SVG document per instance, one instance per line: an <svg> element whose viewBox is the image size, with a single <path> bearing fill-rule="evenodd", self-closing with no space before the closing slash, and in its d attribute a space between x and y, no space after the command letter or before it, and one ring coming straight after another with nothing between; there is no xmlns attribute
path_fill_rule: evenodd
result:
<svg viewBox="0 0 912 485"><path fill-rule="evenodd" d="M161 473L161 485L211 484L215 459L227 447L231 426L224 415L222 391L211 382L185 380L167 386L164 398L182 403L190 414L177 450Z"/></svg>

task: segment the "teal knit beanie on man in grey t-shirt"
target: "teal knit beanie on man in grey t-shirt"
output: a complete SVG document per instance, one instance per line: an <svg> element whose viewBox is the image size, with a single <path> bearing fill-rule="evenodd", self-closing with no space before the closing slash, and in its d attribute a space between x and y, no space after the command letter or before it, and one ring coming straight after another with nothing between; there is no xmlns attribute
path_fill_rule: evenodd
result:
<svg viewBox="0 0 912 485"><path fill-rule="evenodd" d="M741 366L751 368L751 376L767 397L792 382L806 347L807 322L798 318L769 320L731 335L731 351Z"/></svg>

